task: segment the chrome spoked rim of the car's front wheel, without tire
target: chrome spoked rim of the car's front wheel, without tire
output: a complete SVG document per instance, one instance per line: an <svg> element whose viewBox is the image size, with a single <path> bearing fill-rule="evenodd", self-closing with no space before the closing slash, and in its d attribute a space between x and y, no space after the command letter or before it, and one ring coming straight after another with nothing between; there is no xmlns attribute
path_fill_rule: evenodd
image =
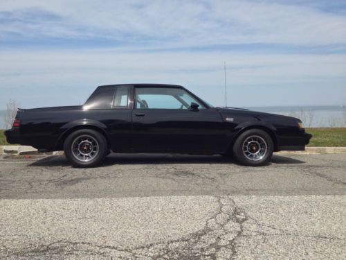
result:
<svg viewBox="0 0 346 260"><path fill-rule="evenodd" d="M243 153L251 161L260 161L266 156L267 147L266 141L262 137L251 135L246 137L243 142Z"/></svg>

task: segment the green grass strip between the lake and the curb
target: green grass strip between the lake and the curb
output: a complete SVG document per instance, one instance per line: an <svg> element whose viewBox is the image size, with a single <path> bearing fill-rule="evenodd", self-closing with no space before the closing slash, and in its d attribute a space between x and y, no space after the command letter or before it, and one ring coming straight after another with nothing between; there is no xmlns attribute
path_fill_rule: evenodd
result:
<svg viewBox="0 0 346 260"><path fill-rule="evenodd" d="M7 145L4 130L0 130L0 146ZM307 128L313 135L308 146L346 146L346 128Z"/></svg>

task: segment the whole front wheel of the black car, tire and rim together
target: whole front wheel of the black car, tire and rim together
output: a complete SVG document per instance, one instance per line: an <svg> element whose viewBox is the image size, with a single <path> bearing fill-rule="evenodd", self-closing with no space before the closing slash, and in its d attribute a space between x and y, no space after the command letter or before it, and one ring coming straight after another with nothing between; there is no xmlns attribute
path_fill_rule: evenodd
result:
<svg viewBox="0 0 346 260"><path fill-rule="evenodd" d="M233 155L245 166L262 166L268 164L273 155L273 139L267 132L250 129L243 132L233 145Z"/></svg>

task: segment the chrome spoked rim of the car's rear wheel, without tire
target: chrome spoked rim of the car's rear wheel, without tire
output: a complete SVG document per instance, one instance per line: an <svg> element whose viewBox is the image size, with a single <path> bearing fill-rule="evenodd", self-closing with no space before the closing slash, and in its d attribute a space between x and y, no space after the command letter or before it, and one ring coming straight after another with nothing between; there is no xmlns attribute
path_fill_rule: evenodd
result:
<svg viewBox="0 0 346 260"><path fill-rule="evenodd" d="M73 157L80 162L90 162L98 155L99 150L98 141L91 135L80 135L71 145Z"/></svg>

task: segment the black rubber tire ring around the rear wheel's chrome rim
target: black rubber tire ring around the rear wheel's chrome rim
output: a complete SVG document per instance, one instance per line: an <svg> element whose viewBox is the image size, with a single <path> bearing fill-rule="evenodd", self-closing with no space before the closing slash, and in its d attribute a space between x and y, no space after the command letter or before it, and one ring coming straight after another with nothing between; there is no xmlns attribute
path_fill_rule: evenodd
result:
<svg viewBox="0 0 346 260"><path fill-rule="evenodd" d="M80 135L91 135L91 137L95 138L98 141L98 146L99 146L99 152L98 155L95 156L95 158L91 159L89 162L81 162L78 159L76 159L71 150L71 146L73 143L73 140L75 138L79 137ZM73 164L73 166L77 168L87 168L87 167L93 167L97 166L102 162L104 157L107 155L107 141L104 138L104 136L95 130L91 129L82 129L82 130L76 130L75 132L72 132L64 141L64 153L67 159Z"/></svg>

